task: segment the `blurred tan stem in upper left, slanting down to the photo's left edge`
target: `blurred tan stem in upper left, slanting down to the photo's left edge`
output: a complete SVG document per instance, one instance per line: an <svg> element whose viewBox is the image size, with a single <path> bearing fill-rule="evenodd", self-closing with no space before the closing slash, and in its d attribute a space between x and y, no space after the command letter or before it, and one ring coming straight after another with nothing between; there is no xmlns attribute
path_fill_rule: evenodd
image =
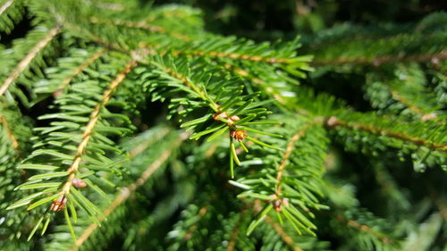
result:
<svg viewBox="0 0 447 251"><path fill-rule="evenodd" d="M2 86L0 87L0 96L4 95L4 92L9 88L9 86L13 83L15 79L17 79L21 72L24 71L28 65L30 65L31 61L38 55L38 53L45 48L48 43L55 38L55 36L61 30L61 25L56 25L53 29L48 31L48 34L45 38L40 40L36 46L34 46L30 52L21 60L20 63L17 64L15 69L11 72L8 78L4 79Z"/></svg>

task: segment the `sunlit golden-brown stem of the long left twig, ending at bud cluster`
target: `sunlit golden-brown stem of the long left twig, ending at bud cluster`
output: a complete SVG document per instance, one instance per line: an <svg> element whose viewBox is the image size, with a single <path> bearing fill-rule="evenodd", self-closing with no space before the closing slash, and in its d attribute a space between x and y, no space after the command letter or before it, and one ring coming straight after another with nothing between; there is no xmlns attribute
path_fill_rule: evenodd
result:
<svg viewBox="0 0 447 251"><path fill-rule="evenodd" d="M80 141L80 144L76 149L76 154L74 155L72 164L67 170L67 172L69 172L70 174L68 175L68 180L63 185L61 197L65 197L65 195L70 193L70 188L72 188L72 180L74 179L76 172L78 172L80 162L82 160L82 155L84 155L86 148L89 144L89 140L92 136L93 130L95 130L95 126L97 125L97 121L99 120L99 113L101 112L101 109L108 103L108 101L112 97L114 90L118 88L118 86L122 83L122 80L126 78L126 75L135 66L137 66L137 63L132 60L124 67L124 70L122 70L116 76L114 81L112 81L112 83L110 84L109 88L105 90L101 98L101 102L95 107L93 113L91 113L89 123L86 125L85 130L82 133L82 140Z"/></svg>

